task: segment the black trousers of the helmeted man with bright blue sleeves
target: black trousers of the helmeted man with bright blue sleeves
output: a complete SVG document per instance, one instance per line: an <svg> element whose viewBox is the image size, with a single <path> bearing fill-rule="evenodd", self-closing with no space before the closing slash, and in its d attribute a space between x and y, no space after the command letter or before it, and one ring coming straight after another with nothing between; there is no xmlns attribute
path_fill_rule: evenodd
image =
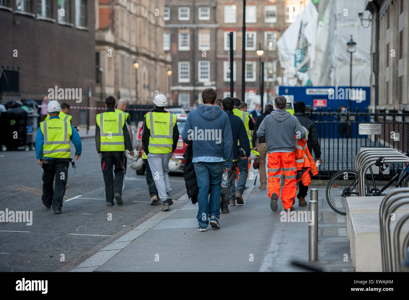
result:
<svg viewBox="0 0 409 300"><path fill-rule="evenodd" d="M63 207L69 165L70 159L68 158L48 159L47 163L43 163L43 195L41 199L47 208L52 206L53 210L61 210ZM54 177L55 187L53 189Z"/></svg>

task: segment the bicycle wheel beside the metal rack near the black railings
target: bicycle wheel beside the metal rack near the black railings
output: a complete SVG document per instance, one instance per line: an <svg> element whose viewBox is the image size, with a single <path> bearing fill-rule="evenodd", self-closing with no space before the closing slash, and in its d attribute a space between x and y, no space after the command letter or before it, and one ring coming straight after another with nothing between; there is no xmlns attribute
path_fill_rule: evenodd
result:
<svg viewBox="0 0 409 300"><path fill-rule="evenodd" d="M369 189L365 179L365 188ZM346 215L346 197L358 196L358 172L355 170L342 170L328 181L326 197L329 206L340 215Z"/></svg>

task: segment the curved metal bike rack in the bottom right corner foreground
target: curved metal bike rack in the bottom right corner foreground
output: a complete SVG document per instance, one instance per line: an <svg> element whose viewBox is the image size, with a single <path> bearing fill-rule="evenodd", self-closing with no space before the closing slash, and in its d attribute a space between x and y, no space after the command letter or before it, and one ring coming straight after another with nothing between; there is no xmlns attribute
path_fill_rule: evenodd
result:
<svg viewBox="0 0 409 300"><path fill-rule="evenodd" d="M406 198L406 199L405 199ZM397 203L396 203L397 202ZM400 254L399 251L399 233L400 229L402 228L402 225L405 223L407 218L401 222L402 219L398 222L398 224L401 224L400 227L398 228L398 225L395 228L394 232L394 239L393 239L393 250L394 250L394 257L393 260L395 264L393 264L392 261L392 249L391 249L391 238L390 238L390 214L396 211L400 206L404 204L409 204L409 188L397 188L396 190L393 190L391 193L386 195L384 199L381 202L380 208L379 208L379 218L380 218L380 242L381 242L381 253L382 253L382 271L384 272L389 272L393 270L398 270L396 268L397 265L400 264L400 261L402 258L403 251L405 245L408 246L409 244L409 233L405 236L404 242L402 244L402 254ZM406 214L409 215L409 214ZM405 215L405 216L406 216ZM408 217L409 218L409 217ZM398 239L396 239L396 235L398 235Z"/></svg>

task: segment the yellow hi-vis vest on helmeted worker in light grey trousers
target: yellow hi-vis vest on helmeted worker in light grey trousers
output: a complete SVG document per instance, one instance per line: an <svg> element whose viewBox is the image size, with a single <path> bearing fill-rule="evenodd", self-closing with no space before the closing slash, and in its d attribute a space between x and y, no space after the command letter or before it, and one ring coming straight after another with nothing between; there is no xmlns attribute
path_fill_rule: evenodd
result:
<svg viewBox="0 0 409 300"><path fill-rule="evenodd" d="M176 115L168 112L149 112L145 118L146 127L151 132L148 144L149 153L171 153Z"/></svg>

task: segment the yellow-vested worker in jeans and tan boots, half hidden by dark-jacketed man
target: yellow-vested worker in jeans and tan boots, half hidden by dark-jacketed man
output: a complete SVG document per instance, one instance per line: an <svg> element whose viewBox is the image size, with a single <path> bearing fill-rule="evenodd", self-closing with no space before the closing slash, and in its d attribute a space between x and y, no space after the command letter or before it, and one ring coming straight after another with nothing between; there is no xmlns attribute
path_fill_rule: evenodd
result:
<svg viewBox="0 0 409 300"><path fill-rule="evenodd" d="M237 98L233 98L233 101L234 101L233 113L235 116L238 116L243 121L244 126L246 128L247 137L249 138L250 149L253 149L251 131L254 129L254 122L252 120L252 117L250 116L248 112L245 111L247 110L247 105L245 105L245 108L244 108L245 110L241 110L240 104L242 102L240 102L240 100ZM246 153L246 154L249 155L249 153ZM248 172L249 163L248 163L247 157L245 158L239 157L237 161L237 166L238 166L238 171L240 172L240 174L238 175L237 188L235 186L234 181L231 184L229 206L236 205L236 201L237 201L237 204L244 204L243 190L245 189L246 182L247 182L247 175L249 174Z"/></svg>

